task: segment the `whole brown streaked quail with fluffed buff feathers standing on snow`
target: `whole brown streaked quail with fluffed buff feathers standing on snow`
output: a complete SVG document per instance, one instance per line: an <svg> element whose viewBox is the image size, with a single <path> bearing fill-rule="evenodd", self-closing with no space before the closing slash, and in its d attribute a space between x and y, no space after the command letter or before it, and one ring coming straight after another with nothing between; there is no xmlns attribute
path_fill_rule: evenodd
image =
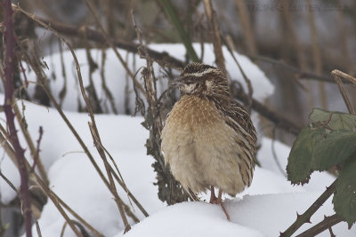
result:
<svg viewBox="0 0 356 237"><path fill-rule="evenodd" d="M228 81L218 68L190 63L174 84L181 98L161 133L165 163L188 192L210 189L210 203L220 204L230 220L222 194L235 196L251 185L255 127L246 109L231 99Z"/></svg>

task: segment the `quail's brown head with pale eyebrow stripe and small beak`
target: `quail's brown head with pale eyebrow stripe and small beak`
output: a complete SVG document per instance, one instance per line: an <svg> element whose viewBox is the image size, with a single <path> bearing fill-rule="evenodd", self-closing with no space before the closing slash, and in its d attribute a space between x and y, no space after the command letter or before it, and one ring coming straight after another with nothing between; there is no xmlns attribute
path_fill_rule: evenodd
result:
<svg viewBox="0 0 356 237"><path fill-rule="evenodd" d="M182 70L174 81L182 95L211 96L230 98L228 82L218 68L193 62Z"/></svg>

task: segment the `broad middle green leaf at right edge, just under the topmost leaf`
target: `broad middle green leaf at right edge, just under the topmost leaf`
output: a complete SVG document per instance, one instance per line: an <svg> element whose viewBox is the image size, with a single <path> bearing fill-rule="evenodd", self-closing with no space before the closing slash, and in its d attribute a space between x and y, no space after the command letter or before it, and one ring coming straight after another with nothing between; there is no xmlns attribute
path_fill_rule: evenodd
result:
<svg viewBox="0 0 356 237"><path fill-rule="evenodd" d="M312 153L312 170L328 170L344 163L356 152L356 132L337 130L328 133Z"/></svg>

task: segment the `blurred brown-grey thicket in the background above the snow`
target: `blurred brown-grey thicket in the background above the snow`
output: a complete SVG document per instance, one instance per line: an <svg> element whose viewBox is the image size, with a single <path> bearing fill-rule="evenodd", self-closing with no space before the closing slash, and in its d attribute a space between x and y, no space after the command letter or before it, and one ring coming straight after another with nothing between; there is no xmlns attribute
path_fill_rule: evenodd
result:
<svg viewBox="0 0 356 237"><path fill-rule="evenodd" d="M166 14L164 1L161 0L12 2L47 22L56 22L64 26L62 35L76 49L102 49L108 46L100 41L88 41L80 34L74 35L68 31L66 33L65 29L87 27L101 31L102 26L109 39L137 43L132 11L137 25L142 29L142 39L145 43L182 43L181 37ZM93 7L95 15L89 10L87 2ZM202 1L171 2L191 42L211 41L207 33L208 25ZM230 42L236 51L252 59L274 84L274 94L264 101L266 107L300 127L309 122L308 115L312 107L347 112L330 72L339 69L349 75L356 75L356 1L212 2L223 42ZM0 18L3 19L4 16L1 15ZM19 41L24 43L27 51L35 53L38 58L64 50L56 36L39 27L34 21L28 20L22 13L15 12L14 22ZM188 60L190 59L187 56ZM346 90L352 99L352 105L356 106L355 86L348 84ZM43 92L37 91L34 100L49 105L49 101L41 93ZM132 113L127 111L126 114ZM275 124L268 120L263 119L262 123L265 135L277 138L287 145L293 143L295 135L286 130L275 130ZM12 222L20 223L20 215L18 218ZM20 233L12 231L14 236Z"/></svg>

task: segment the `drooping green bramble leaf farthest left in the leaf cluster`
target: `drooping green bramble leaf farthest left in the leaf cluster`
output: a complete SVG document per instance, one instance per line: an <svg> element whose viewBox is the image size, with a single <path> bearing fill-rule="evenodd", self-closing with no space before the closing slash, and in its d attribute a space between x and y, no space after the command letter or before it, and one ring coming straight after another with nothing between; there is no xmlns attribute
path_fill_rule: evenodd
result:
<svg viewBox="0 0 356 237"><path fill-rule="evenodd" d="M288 157L287 178L292 184L308 183L312 174L312 151L325 133L324 128L303 129L292 146Z"/></svg>

